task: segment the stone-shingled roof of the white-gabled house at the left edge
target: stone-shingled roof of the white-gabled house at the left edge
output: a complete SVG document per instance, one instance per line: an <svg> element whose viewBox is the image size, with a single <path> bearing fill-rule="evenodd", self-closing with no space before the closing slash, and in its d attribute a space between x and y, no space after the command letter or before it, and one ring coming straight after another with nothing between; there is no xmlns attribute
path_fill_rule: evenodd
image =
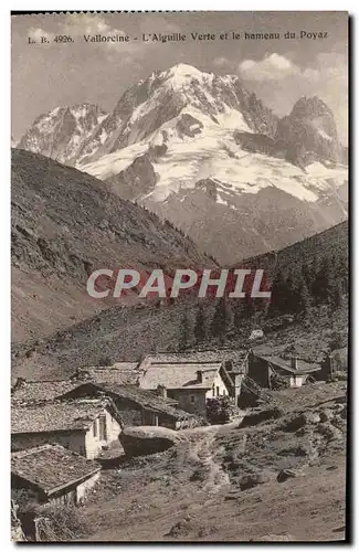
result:
<svg viewBox="0 0 359 552"><path fill-rule="evenodd" d="M11 434L86 431L106 407L104 400L13 405Z"/></svg>

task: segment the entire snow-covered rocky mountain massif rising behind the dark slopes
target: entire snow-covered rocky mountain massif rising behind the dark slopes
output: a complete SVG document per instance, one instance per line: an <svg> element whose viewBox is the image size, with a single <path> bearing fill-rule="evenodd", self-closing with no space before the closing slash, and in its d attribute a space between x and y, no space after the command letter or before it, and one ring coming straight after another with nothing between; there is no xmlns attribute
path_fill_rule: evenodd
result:
<svg viewBox="0 0 359 552"><path fill-rule="evenodd" d="M300 98L279 119L239 76L188 64L136 83L108 115L87 104L54 109L20 147L61 153L222 262L347 216L347 168L321 99Z"/></svg>

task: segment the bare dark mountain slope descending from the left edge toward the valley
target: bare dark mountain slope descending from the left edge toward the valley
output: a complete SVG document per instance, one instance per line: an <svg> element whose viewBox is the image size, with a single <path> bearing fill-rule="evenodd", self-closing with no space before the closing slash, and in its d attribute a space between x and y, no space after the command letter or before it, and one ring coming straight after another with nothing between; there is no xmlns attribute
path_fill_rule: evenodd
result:
<svg viewBox="0 0 359 552"><path fill-rule="evenodd" d="M86 294L96 268L212 266L169 224L106 184L49 158L12 153L13 339L39 338L104 308Z"/></svg>

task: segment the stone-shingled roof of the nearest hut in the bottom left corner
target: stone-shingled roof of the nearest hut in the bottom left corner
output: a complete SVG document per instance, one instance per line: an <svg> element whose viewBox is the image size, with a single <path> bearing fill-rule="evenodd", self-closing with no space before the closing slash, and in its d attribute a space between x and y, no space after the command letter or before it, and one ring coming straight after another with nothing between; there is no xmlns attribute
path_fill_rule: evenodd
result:
<svg viewBox="0 0 359 552"><path fill-rule="evenodd" d="M99 471L95 460L61 445L42 445L11 455L11 474L42 489L46 495Z"/></svg>

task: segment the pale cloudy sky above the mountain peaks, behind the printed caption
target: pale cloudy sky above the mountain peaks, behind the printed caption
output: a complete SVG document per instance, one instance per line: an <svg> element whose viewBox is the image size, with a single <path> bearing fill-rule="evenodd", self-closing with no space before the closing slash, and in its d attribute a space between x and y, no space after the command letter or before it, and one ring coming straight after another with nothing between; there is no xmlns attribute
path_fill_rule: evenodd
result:
<svg viewBox="0 0 359 552"><path fill-rule="evenodd" d="M232 39L233 32L240 39ZM295 36L285 39L286 32ZM154 33L182 33L187 40L142 40ZM193 40L191 33L215 39ZM225 33L228 39L221 39ZM246 39L245 33L279 33L279 39ZM129 41L85 42L84 35L96 34L128 35ZM73 42L55 42L59 35ZM86 102L112 110L129 86L154 71L187 63L241 76L279 116L291 113L299 97L319 96L347 145L347 50L346 12L12 15L12 137L20 139L39 115L57 106Z"/></svg>

